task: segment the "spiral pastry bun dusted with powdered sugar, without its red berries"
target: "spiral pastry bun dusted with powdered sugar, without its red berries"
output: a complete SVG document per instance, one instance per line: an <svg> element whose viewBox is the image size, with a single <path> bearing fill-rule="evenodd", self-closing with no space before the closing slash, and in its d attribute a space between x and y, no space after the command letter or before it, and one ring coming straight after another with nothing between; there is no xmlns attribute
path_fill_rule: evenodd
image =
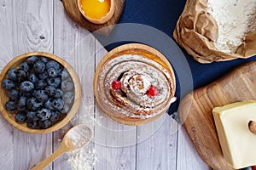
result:
<svg viewBox="0 0 256 170"><path fill-rule="evenodd" d="M114 80L121 82L113 89ZM98 94L112 116L145 119L158 115L175 101L170 73L158 62L138 54L122 54L102 66L98 77ZM159 94L150 96L148 88L157 87Z"/></svg>

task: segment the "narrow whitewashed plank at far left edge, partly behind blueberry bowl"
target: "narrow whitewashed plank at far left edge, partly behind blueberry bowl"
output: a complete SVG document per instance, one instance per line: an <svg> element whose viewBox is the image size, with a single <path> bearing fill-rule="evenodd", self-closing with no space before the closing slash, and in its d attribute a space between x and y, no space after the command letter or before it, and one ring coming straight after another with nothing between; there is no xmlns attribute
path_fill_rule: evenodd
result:
<svg viewBox="0 0 256 170"><path fill-rule="evenodd" d="M13 20L13 15L11 15L12 1L1 0L0 4L0 32L3 35L0 37L0 69L2 71L3 66L12 59L14 37L12 37L12 30L9 27L12 26ZM14 131L14 127L12 127L9 122L6 122L1 114L0 132L4 135L4 138L0 138L0 164L3 166L3 169L15 168Z"/></svg>

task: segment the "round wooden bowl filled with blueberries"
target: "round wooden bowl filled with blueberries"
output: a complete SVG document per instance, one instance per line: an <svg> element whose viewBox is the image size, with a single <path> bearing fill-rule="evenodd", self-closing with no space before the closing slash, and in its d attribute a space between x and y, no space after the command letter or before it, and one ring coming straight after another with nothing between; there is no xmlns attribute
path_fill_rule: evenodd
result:
<svg viewBox="0 0 256 170"><path fill-rule="evenodd" d="M58 130L79 110L79 77L54 54L21 54L3 68L0 82L3 117L27 133Z"/></svg>

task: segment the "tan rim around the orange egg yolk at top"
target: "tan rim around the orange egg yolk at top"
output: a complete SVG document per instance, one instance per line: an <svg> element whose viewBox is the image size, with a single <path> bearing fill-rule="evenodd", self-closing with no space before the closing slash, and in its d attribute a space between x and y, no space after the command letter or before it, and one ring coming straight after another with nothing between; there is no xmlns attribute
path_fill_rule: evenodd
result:
<svg viewBox="0 0 256 170"><path fill-rule="evenodd" d="M113 13L114 13L114 0L110 0L110 8L109 8L108 13L104 14L102 16L102 18L98 19L98 20L92 19L89 16L87 16L86 14L84 14L84 10L82 9L81 1L82 0L78 0L79 11L84 16L84 18L86 20L89 20L91 23L94 23L94 24L97 24L97 25L101 25L101 24L104 24L104 23L108 22L108 20L110 20L113 17Z"/></svg>

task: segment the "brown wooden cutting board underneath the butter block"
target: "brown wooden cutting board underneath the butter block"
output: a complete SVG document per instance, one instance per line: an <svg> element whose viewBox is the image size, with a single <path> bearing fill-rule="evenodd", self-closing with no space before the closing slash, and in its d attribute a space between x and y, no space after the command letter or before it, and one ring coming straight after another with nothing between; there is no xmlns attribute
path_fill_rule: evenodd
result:
<svg viewBox="0 0 256 170"><path fill-rule="evenodd" d="M256 99L256 61L241 65L217 81L196 89L180 104L183 127L203 161L213 169L233 168L224 160L218 143L212 108L246 99Z"/></svg>

